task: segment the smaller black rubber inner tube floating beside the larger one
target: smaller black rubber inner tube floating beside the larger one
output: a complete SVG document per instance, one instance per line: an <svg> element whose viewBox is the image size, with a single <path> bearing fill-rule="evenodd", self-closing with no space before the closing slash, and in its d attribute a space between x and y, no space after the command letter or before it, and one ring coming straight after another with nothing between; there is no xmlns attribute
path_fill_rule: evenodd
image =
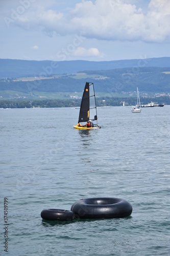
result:
<svg viewBox="0 0 170 256"><path fill-rule="evenodd" d="M76 218L76 215L70 210L43 209L41 218L46 221L72 221Z"/></svg>

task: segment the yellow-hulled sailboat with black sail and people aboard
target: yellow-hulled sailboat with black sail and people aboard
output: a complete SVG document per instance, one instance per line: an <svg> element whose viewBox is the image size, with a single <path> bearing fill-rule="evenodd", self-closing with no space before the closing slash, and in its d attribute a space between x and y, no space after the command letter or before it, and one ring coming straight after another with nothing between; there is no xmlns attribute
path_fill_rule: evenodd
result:
<svg viewBox="0 0 170 256"><path fill-rule="evenodd" d="M93 127L86 127L80 124L80 122L92 122ZM92 122L93 123L93 122ZM98 125L98 116L95 102L95 93L94 93L94 84L92 82L86 82L82 102L80 106L79 120L78 124L73 126L76 129L80 130L89 130L89 129L98 129L101 126Z"/></svg>

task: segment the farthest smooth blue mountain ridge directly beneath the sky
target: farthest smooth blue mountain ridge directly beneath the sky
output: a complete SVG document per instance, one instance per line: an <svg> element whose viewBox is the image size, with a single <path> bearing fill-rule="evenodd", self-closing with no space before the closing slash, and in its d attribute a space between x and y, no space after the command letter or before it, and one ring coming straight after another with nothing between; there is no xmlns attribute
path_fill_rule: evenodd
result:
<svg viewBox="0 0 170 256"><path fill-rule="evenodd" d="M86 71L112 70L132 68L159 67L170 68L170 57L141 58L112 61L51 61L51 60L19 60L0 59L0 79L30 76L50 76L56 74L70 74Z"/></svg>

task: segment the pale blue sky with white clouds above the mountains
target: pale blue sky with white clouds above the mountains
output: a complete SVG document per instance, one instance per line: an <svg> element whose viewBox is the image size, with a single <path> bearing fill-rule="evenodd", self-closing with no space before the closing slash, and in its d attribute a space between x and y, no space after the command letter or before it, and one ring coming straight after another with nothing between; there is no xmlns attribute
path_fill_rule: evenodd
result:
<svg viewBox="0 0 170 256"><path fill-rule="evenodd" d="M0 0L0 58L169 57L170 0Z"/></svg>

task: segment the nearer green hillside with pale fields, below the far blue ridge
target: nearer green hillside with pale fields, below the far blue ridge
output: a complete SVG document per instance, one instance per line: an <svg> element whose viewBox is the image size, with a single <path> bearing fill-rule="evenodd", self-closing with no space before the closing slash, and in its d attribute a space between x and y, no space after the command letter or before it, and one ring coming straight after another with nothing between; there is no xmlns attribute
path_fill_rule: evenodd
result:
<svg viewBox="0 0 170 256"><path fill-rule="evenodd" d="M133 69L114 69L106 71L85 71L84 73L64 74L42 77L1 79L0 97L47 97L63 98L70 94L81 97L86 81L94 82L97 94L112 97L132 95L138 86L140 95L169 93L170 68L140 68L135 73ZM76 93L75 93L76 92ZM77 94L78 93L78 94ZM61 95L60 95L61 94ZM117 95L117 96L118 96Z"/></svg>

